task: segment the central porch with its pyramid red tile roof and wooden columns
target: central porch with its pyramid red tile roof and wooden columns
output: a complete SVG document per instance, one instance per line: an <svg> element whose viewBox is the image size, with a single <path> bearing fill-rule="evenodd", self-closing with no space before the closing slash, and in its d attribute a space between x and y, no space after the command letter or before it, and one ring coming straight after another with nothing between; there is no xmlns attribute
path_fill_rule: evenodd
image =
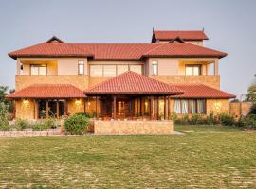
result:
<svg viewBox="0 0 256 189"><path fill-rule="evenodd" d="M167 83L126 72L84 92L85 112L100 120L168 120L172 95L183 94Z"/></svg>

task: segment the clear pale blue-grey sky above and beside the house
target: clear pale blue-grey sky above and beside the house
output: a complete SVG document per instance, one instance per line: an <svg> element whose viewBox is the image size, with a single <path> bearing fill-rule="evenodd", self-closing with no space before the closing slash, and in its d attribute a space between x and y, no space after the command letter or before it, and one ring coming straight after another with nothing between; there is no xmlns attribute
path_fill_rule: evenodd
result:
<svg viewBox="0 0 256 189"><path fill-rule="evenodd" d="M205 28L206 46L227 52L221 88L245 94L256 74L254 0L9 0L0 2L0 85L14 88L8 53L56 35L69 43L150 43L152 28Z"/></svg>

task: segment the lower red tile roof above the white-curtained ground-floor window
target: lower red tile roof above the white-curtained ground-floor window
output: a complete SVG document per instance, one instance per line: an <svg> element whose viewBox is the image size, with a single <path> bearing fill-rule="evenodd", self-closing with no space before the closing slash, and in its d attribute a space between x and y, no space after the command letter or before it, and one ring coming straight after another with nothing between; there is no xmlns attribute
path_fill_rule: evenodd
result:
<svg viewBox="0 0 256 189"><path fill-rule="evenodd" d="M174 86L184 91L184 94L174 95L173 98L235 98L233 94L203 84L174 84Z"/></svg>

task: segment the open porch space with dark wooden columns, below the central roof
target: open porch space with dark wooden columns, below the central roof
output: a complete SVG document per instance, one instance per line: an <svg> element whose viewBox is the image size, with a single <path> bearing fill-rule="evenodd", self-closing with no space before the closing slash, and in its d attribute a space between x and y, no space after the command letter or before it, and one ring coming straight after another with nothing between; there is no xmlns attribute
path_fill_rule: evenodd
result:
<svg viewBox="0 0 256 189"><path fill-rule="evenodd" d="M85 99L85 112L99 120L169 120L169 95L108 94ZM92 106L94 104L94 106Z"/></svg>

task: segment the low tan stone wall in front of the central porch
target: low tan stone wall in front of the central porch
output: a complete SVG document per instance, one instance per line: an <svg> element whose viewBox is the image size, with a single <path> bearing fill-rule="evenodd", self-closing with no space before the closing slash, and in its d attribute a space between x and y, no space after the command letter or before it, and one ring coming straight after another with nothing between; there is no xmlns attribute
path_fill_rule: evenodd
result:
<svg viewBox="0 0 256 189"><path fill-rule="evenodd" d="M95 121L94 134L172 134L173 121Z"/></svg>

